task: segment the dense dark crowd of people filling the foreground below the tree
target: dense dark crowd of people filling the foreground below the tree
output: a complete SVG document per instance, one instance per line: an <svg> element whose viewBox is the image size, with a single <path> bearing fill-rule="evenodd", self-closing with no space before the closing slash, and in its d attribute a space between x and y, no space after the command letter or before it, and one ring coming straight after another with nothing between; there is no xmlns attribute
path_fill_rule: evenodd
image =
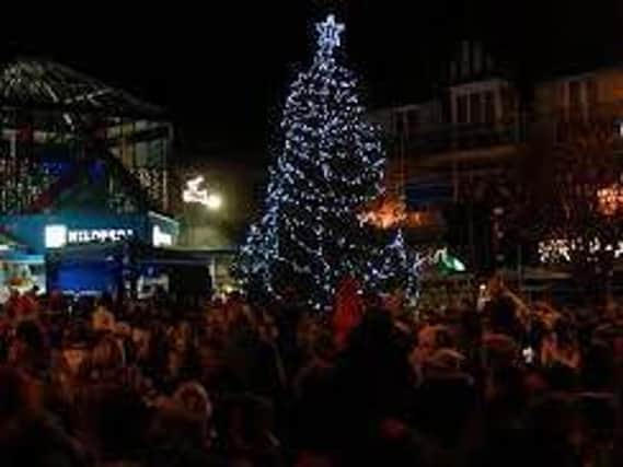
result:
<svg viewBox="0 0 623 467"><path fill-rule="evenodd" d="M332 311L293 296L67 303L14 294L0 323L4 466L623 465L615 308Z"/></svg>

